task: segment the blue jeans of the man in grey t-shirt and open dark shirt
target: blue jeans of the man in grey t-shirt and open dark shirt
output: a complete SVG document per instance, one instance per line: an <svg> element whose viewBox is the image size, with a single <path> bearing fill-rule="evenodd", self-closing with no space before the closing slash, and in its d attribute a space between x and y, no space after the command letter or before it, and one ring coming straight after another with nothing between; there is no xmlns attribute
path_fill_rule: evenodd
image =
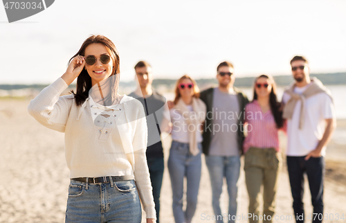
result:
<svg viewBox="0 0 346 223"><path fill-rule="evenodd" d="M231 216L228 222L235 222L232 220L232 216L237 216L237 182L240 172L240 157L206 156L206 164L212 185L212 208L214 214L216 216L224 216L221 213L220 197L224 177L226 177L229 197L228 215ZM222 217L219 217L216 222L223 222Z"/></svg>

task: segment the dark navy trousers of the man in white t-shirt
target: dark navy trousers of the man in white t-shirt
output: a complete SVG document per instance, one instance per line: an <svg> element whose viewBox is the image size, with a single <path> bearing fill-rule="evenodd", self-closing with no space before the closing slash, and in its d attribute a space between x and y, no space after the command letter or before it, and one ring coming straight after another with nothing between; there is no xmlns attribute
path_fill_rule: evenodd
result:
<svg viewBox="0 0 346 223"><path fill-rule="evenodd" d="M293 197L293 211L296 222L304 222L304 204L302 198L304 195L304 172L307 173L309 181L311 203L313 214L311 219L313 223L322 222L323 216L323 179L325 176L325 159L323 157L310 157L307 161L305 157L286 157L287 169L289 170L289 183ZM319 219L318 219L319 218Z"/></svg>

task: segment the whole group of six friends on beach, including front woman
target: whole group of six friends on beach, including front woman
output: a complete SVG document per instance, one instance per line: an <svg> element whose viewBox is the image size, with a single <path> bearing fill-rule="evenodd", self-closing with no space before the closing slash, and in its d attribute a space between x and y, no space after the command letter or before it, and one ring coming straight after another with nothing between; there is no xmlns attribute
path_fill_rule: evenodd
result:
<svg viewBox="0 0 346 223"><path fill-rule="evenodd" d="M134 67L138 88L129 96L120 95L119 60L110 39L92 35L71 57L66 72L28 105L39 123L65 133L66 163L71 170L66 222L141 222L142 205L147 223L159 222L163 132L172 136L167 168L176 223L192 222L194 217L202 153L210 175L215 221L223 222L224 179L228 215L237 215L244 154L248 213L253 216L249 222L259 222L260 215L271 222L282 168L279 131L288 137L286 163L294 214L304 214L304 174L309 179L313 213L323 214L324 157L336 117L329 90L310 78L306 58L291 60L295 81L281 102L271 75L255 78L249 102L233 86L234 68L227 61L217 66L217 87L199 91L194 79L183 75L176 82L174 100L168 102L152 88L152 66L140 61ZM76 91L60 96L76 78ZM322 220L315 217L313 222Z"/></svg>

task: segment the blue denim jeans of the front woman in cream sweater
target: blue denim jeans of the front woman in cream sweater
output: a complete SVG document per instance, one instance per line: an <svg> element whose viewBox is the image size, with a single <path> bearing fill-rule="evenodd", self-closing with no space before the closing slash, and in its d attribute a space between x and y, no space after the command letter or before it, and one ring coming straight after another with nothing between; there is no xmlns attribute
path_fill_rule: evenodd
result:
<svg viewBox="0 0 346 223"><path fill-rule="evenodd" d="M134 180L85 184L71 180L65 222L140 223L142 210Z"/></svg>

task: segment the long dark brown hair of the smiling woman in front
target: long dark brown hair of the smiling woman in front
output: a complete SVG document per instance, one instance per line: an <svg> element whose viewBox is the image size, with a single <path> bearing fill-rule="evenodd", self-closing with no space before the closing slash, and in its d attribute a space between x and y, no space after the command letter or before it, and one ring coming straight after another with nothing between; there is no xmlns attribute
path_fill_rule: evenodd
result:
<svg viewBox="0 0 346 223"><path fill-rule="evenodd" d="M119 86L119 80L120 80L120 58L118 50L116 49L116 46L111 42L111 39L108 39L107 37L104 37L103 35L91 35L88 39L85 39L82 46L80 47L80 50L71 57L69 60L69 64L71 63L71 60L73 60L74 57L78 55L84 56L85 48L86 46L89 46L90 44L103 44L109 54L111 55L111 60L113 60L113 71L111 75L116 75L116 78L114 78L114 83L111 85L111 99L112 101L115 100L118 94L118 86ZM76 85L76 93L71 90L71 93L75 96L75 102L78 106L82 105L83 102L88 98L89 96L89 90L91 89L91 78L88 74L88 71L85 69L82 69L82 72L80 72L80 75L77 78L77 85Z"/></svg>

